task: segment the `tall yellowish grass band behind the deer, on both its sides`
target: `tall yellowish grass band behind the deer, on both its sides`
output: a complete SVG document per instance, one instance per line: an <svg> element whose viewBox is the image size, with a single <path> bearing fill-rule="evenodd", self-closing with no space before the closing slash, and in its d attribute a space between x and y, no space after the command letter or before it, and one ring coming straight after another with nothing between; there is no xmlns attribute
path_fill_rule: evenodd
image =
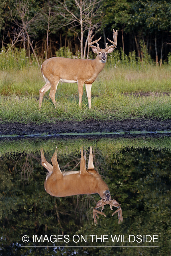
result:
<svg viewBox="0 0 171 256"><path fill-rule="evenodd" d="M0 70L0 94L2 95L35 95L44 86L44 79L38 67L31 66L20 70ZM171 66L156 67L120 67L106 66L92 86L92 95L101 95L105 89L118 92L170 92ZM47 92L45 95L48 95ZM58 96L75 95L78 97L77 84L59 84Z"/></svg>

